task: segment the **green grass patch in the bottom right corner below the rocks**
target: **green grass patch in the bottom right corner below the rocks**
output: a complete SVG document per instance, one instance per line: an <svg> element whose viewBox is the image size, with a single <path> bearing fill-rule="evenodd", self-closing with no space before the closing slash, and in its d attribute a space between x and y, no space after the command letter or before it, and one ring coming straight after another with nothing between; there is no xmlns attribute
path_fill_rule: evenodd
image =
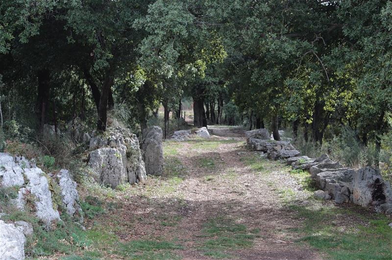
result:
<svg viewBox="0 0 392 260"><path fill-rule="evenodd" d="M391 222L387 216L376 213L361 213L366 224L353 225L352 221L336 221L337 218L355 216L350 210L339 208L307 208L291 206L303 221L295 229L305 241L321 250L330 259L392 259ZM337 224L342 223L342 224Z"/></svg>

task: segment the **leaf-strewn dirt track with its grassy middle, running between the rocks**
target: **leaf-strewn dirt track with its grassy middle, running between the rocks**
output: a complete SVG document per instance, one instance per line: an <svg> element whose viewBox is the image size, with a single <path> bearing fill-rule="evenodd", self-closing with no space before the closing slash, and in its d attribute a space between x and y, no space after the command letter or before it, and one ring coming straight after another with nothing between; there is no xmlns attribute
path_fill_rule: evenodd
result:
<svg viewBox="0 0 392 260"><path fill-rule="evenodd" d="M177 241L181 249L171 256L180 259L319 259L314 250L294 244L287 230L298 219L265 176L242 162L252 156L240 137L244 131L213 131L235 137L165 142L166 176L133 190L101 224L117 222L122 242Z"/></svg>

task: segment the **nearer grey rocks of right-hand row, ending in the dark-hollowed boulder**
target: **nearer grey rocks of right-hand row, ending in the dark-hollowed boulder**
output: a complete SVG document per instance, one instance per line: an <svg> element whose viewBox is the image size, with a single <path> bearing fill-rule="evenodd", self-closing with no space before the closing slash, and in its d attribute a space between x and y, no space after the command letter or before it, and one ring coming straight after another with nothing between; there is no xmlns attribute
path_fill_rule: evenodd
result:
<svg viewBox="0 0 392 260"><path fill-rule="evenodd" d="M337 204L351 202L363 207L377 207L380 211L392 213L391 186L383 180L378 169L353 170L333 162L325 154L316 159L290 158L287 164L310 171L311 178L321 189L315 192L315 197L334 199Z"/></svg>

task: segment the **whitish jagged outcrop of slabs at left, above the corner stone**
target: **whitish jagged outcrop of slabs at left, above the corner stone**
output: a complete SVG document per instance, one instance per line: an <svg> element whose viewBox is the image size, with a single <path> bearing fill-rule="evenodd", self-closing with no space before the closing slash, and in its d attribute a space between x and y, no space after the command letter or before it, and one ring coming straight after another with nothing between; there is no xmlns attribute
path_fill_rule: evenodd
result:
<svg viewBox="0 0 392 260"><path fill-rule="evenodd" d="M46 174L24 157L7 153L0 153L0 165L0 187L18 188L17 197L11 201L19 210L34 212L43 222L50 223L60 220L58 206L62 206L69 215L83 222L76 183L68 170Z"/></svg>

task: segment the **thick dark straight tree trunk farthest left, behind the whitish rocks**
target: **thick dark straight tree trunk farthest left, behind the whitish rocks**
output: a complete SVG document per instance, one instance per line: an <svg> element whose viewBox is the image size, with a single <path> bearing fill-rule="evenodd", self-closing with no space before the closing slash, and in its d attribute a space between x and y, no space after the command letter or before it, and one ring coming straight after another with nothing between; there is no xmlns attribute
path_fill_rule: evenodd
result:
<svg viewBox="0 0 392 260"><path fill-rule="evenodd" d="M40 130L44 129L46 122L46 113L49 104L49 92L50 92L50 71L41 70L37 72L38 77L38 115L40 122Z"/></svg>

